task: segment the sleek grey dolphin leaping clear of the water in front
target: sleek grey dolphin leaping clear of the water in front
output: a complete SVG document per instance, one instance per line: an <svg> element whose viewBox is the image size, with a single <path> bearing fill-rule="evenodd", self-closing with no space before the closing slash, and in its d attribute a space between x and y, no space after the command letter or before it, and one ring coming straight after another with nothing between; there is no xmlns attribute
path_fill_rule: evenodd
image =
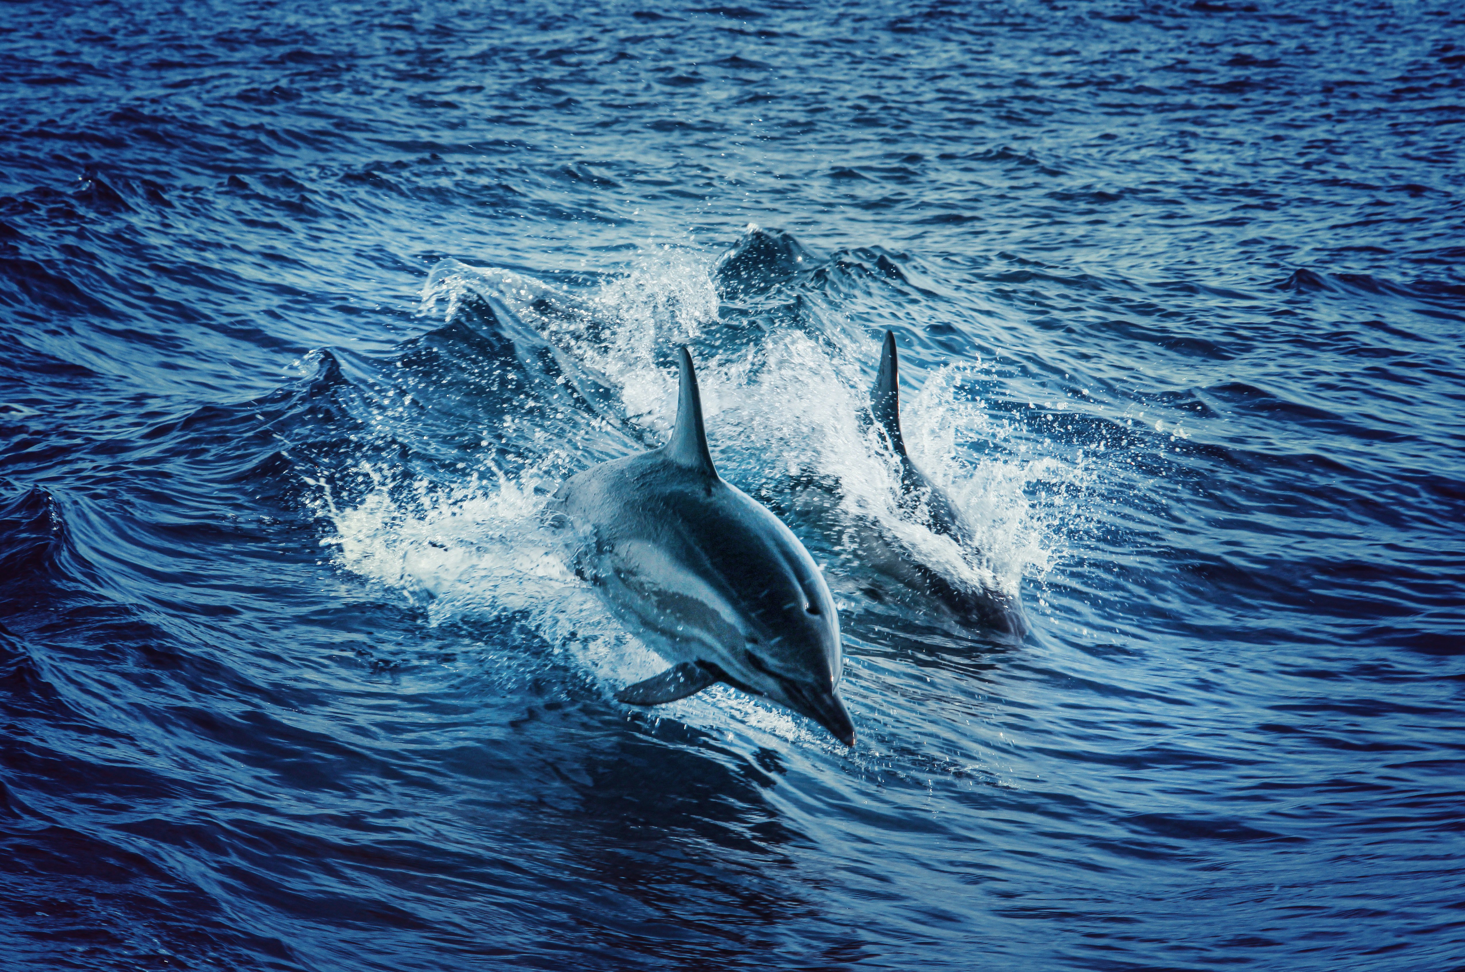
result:
<svg viewBox="0 0 1465 972"><path fill-rule="evenodd" d="M834 597L784 523L712 466L691 356L677 427L650 452L602 463L555 493L589 534L579 568L672 668L617 692L658 706L724 682L809 716L845 745Z"/></svg>

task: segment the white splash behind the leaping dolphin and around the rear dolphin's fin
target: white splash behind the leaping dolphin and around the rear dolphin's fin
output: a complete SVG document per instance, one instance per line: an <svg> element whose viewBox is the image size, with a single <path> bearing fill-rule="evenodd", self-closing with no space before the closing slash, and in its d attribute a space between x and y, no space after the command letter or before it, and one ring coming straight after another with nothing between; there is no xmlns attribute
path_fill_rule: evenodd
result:
<svg viewBox="0 0 1465 972"><path fill-rule="evenodd" d="M976 528L958 545L902 509L898 457L867 419L875 350L858 329L815 312L798 326L737 340L719 319L705 253L646 247L631 266L574 293L500 268L444 261L423 287L423 313L451 319L469 296L494 302L614 386L649 441L675 417L671 348L700 343L699 379L713 457L747 492L790 477L837 483L837 517L875 524L907 555L968 588L1015 594L1061 559L1065 523L1086 489L1083 457L1034 457L1018 429L989 419L980 360L932 372L902 416L911 458ZM825 321L823 318L829 318ZM835 552L837 553L837 552Z"/></svg>

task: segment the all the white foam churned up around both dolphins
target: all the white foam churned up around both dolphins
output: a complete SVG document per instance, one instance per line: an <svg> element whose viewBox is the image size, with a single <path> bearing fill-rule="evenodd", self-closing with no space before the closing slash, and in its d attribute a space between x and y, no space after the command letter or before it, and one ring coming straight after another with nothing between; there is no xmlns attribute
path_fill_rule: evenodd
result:
<svg viewBox="0 0 1465 972"><path fill-rule="evenodd" d="M702 253L648 249L626 274L580 294L514 271L444 261L423 285L422 310L451 319L472 294L498 302L609 381L627 416L655 438L675 416L670 350L716 337L708 266ZM963 547L932 533L901 509L898 460L860 420L879 343L847 328L828 331L756 331L756 343L716 345L697 362L724 476L749 492L776 487L790 474L837 479L844 518L879 524L949 580L1009 593L1024 578L1040 581L1062 555L1074 490L1087 482L1083 463L1034 457L1015 426L992 420L976 395L987 376L980 362L936 369L904 403L905 442L977 536L974 547ZM523 425L505 419L501 433L554 441L554 429ZM322 485L319 514L333 527L322 543L341 568L425 608L432 624L513 615L608 688L655 673L664 662L574 575L564 540L542 524L544 498L557 483L541 482L535 458L526 458L530 468L517 479L481 460L459 483L403 482L397 471L362 464L355 474L366 487L353 504L337 506ZM549 457L541 457L538 468L548 467ZM719 697L716 706L732 706L737 717L776 735L803 732L778 710L743 701ZM683 706L691 716L709 703ZM697 722L711 717L703 711Z"/></svg>

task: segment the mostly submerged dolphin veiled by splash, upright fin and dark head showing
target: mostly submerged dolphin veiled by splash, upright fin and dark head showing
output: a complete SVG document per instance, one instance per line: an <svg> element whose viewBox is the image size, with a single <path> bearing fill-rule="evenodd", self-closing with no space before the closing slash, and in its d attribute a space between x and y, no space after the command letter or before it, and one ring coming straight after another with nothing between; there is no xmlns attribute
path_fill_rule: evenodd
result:
<svg viewBox="0 0 1465 972"><path fill-rule="evenodd" d="M951 502L951 498L911 461L905 451L905 438L901 435L900 357L895 351L894 331L885 332L880 370L876 375L875 388L870 389L870 413L885 429L891 448L900 457L901 506L932 533L948 536L960 546L974 549L976 533L971 524ZM885 550L883 556L876 553L882 549ZM889 550L888 545L876 542L869 545L869 550L875 553L869 558L869 564L875 569L905 587L935 597L960 621L989 628L1009 638L1021 638L1027 634L1023 610L1009 594L996 590L970 590L952 584L926 565ZM869 588L866 593L870 590L875 588Z"/></svg>

